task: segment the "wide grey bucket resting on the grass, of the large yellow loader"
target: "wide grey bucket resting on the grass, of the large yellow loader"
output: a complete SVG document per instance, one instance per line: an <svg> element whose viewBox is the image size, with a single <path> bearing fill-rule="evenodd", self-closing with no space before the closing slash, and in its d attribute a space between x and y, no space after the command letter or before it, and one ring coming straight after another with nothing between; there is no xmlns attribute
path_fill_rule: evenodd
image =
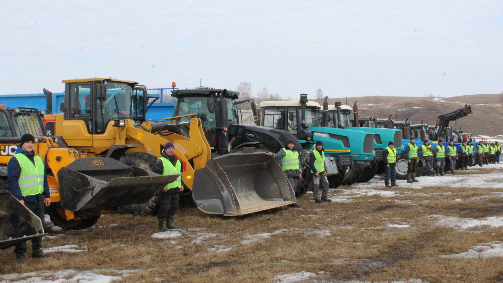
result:
<svg viewBox="0 0 503 283"><path fill-rule="evenodd" d="M296 202L281 166L253 148L211 158L194 175L192 196L209 214L238 216Z"/></svg>

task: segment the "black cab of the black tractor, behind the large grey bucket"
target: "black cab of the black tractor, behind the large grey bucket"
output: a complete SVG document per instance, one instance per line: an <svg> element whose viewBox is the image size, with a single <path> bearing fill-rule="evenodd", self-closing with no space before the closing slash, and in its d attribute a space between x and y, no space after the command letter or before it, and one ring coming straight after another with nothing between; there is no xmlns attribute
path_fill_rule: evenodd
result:
<svg viewBox="0 0 503 283"><path fill-rule="evenodd" d="M225 119L223 117L225 116L224 113L216 104L216 101L220 100L223 91L210 87L199 87L189 90L173 90L171 92L171 96L177 99L173 116L197 114L197 117L201 119L204 135L212 150L217 144L217 127L227 127L230 124L239 123L236 106L239 93L226 91L224 98L227 105L227 121L222 126L217 125L218 119ZM191 118L191 116L186 116L179 119L180 122L184 122L189 121Z"/></svg>

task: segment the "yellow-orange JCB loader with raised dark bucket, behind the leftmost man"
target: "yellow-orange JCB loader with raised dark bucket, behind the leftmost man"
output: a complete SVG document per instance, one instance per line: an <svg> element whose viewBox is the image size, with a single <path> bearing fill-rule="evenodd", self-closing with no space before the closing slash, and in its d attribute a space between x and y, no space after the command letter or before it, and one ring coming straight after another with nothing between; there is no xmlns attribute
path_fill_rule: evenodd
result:
<svg viewBox="0 0 503 283"><path fill-rule="evenodd" d="M46 135L44 113L33 108L0 107L0 189L10 191L8 163L19 148L21 136L34 135L34 151L44 162L50 190L51 205L46 213L61 228L89 228L102 214L117 213L121 205L148 201L179 176L160 176L70 148L62 136ZM8 195L2 197L7 199ZM0 217L11 218L20 212L13 210L10 202L12 199L0 202Z"/></svg>

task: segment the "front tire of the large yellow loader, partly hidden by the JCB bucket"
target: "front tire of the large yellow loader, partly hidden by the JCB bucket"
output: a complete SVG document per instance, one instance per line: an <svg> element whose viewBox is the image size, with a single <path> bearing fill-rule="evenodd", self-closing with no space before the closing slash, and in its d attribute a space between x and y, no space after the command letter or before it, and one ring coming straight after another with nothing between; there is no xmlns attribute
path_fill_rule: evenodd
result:
<svg viewBox="0 0 503 283"><path fill-rule="evenodd" d="M126 165L134 165L136 167L140 167L141 169L152 171L155 163L157 162L157 158L149 153L133 152L123 155L119 161ZM119 213L134 216L157 215L159 211L159 194L160 192L145 203L122 205L119 207Z"/></svg>

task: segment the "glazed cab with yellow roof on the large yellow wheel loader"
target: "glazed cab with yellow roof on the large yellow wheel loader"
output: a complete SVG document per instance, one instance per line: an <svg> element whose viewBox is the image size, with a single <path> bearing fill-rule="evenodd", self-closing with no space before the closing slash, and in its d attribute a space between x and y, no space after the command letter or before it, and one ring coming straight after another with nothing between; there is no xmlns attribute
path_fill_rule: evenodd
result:
<svg viewBox="0 0 503 283"><path fill-rule="evenodd" d="M145 86L112 78L63 80L65 120L82 120L90 134L103 134L110 121L124 126L125 120L145 120L148 102Z"/></svg>

